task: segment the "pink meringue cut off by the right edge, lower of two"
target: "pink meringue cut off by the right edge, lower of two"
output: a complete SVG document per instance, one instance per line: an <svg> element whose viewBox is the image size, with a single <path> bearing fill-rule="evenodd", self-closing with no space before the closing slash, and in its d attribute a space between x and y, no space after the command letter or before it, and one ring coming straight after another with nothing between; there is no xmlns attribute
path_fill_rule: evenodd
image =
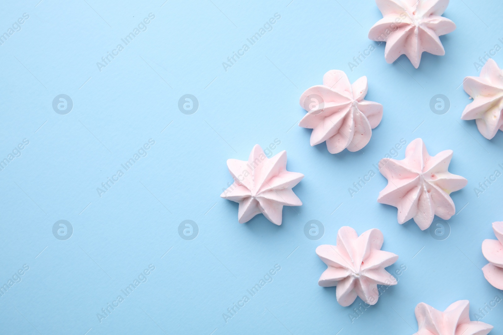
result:
<svg viewBox="0 0 503 335"><path fill-rule="evenodd" d="M492 222L497 240L484 240L482 254L489 264L482 268L485 279L499 290L503 290L503 222Z"/></svg>

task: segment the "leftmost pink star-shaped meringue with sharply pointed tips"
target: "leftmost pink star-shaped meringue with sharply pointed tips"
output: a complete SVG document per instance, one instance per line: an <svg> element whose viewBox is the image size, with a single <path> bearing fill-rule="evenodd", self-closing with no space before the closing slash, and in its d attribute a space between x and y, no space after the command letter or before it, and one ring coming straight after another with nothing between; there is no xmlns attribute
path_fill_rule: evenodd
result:
<svg viewBox="0 0 503 335"><path fill-rule="evenodd" d="M234 183L220 196L239 203L237 217L240 224L263 213L273 224L281 225L284 205L302 205L292 187L304 175L286 170L286 151L267 158L257 144L248 161L228 159L227 167Z"/></svg>

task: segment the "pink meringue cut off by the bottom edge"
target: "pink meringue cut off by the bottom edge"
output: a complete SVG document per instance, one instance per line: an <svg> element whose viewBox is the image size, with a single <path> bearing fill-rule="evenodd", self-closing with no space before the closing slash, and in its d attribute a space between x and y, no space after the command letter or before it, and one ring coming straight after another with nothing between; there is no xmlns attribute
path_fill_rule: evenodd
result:
<svg viewBox="0 0 503 335"><path fill-rule="evenodd" d="M420 302L415 307L415 318L419 330L414 335L486 335L492 325L481 321L470 321L470 302L459 300L441 312Z"/></svg>

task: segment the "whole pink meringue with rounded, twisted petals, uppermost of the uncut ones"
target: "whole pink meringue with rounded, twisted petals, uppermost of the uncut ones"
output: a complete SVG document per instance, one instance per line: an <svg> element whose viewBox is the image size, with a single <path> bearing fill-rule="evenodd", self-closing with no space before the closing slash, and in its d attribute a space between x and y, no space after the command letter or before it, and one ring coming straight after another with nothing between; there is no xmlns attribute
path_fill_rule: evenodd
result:
<svg viewBox="0 0 503 335"><path fill-rule="evenodd" d="M367 77L353 84L341 70L330 70L323 76L323 85L312 86L300 96L300 105L308 111L299 123L312 129L310 144L326 141L331 154L348 148L358 151L370 141L372 129L382 119L382 104L364 99Z"/></svg>

